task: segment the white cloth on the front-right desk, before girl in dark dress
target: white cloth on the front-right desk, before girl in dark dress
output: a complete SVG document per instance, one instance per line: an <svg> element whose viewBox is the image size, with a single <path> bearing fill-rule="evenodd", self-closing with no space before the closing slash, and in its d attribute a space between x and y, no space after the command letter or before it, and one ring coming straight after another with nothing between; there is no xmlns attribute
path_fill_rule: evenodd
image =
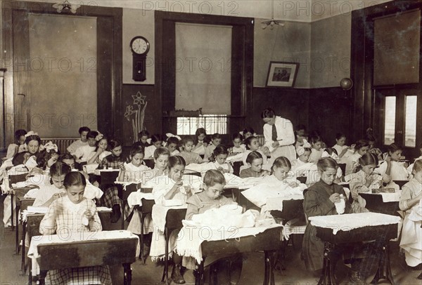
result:
<svg viewBox="0 0 422 285"><path fill-rule="evenodd" d="M314 216L308 219L315 227L333 229L333 234L337 234L340 230L349 231L360 227L398 224L401 220L400 217L382 213L350 213L344 215Z"/></svg>

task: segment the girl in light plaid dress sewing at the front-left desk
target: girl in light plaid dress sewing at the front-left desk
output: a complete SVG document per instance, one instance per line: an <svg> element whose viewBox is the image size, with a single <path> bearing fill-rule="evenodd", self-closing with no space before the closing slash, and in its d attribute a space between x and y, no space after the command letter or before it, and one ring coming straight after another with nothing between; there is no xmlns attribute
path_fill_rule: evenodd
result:
<svg viewBox="0 0 422 285"><path fill-rule="evenodd" d="M101 221L96 213L95 203L84 197L87 185L84 175L70 172L65 176L63 185L67 195L56 199L49 206L39 225L39 232L43 235L60 233L63 237L77 234L80 237L80 232L101 231ZM112 284L108 266L50 270L46 280L48 284L70 284L72 281L75 284Z"/></svg>

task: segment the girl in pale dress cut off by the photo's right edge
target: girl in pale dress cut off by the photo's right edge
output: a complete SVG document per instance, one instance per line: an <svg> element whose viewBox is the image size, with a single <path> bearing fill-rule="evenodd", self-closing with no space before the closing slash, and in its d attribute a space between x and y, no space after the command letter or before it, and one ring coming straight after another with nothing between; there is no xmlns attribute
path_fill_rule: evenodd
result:
<svg viewBox="0 0 422 285"><path fill-rule="evenodd" d="M406 213L403 221L400 247L404 249L407 265L415 267L422 263L422 160L415 162L412 174L414 178L402 187L403 191L399 201L400 210ZM418 218L409 218L411 214L414 217L418 216Z"/></svg>

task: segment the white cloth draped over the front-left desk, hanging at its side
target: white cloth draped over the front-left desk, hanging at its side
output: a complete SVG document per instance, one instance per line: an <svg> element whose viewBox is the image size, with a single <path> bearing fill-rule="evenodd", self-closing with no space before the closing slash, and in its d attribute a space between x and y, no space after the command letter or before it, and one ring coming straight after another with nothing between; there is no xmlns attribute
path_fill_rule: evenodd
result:
<svg viewBox="0 0 422 285"><path fill-rule="evenodd" d="M101 239L133 239L136 235L132 234L127 230L110 230L102 232L86 232L81 234L77 232L72 234L70 237L62 237L58 234L44 235L44 236L35 236L31 239L30 248L28 250L27 256L32 260L32 276L39 274L39 265L37 258L39 258L37 246L41 244L68 244L70 242L77 241L89 241L89 240L101 240ZM138 241L139 244L139 241ZM139 246L136 247L136 256L139 256Z"/></svg>

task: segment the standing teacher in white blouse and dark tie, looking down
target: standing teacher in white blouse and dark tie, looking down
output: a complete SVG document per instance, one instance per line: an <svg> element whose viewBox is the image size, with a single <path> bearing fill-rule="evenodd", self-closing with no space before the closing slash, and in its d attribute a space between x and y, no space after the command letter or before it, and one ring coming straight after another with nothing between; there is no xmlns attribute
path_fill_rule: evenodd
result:
<svg viewBox="0 0 422 285"><path fill-rule="evenodd" d="M295 133L290 120L276 116L274 110L267 108L261 113L264 121L265 146L271 152L271 161L277 157L287 157L288 160L296 159Z"/></svg>

